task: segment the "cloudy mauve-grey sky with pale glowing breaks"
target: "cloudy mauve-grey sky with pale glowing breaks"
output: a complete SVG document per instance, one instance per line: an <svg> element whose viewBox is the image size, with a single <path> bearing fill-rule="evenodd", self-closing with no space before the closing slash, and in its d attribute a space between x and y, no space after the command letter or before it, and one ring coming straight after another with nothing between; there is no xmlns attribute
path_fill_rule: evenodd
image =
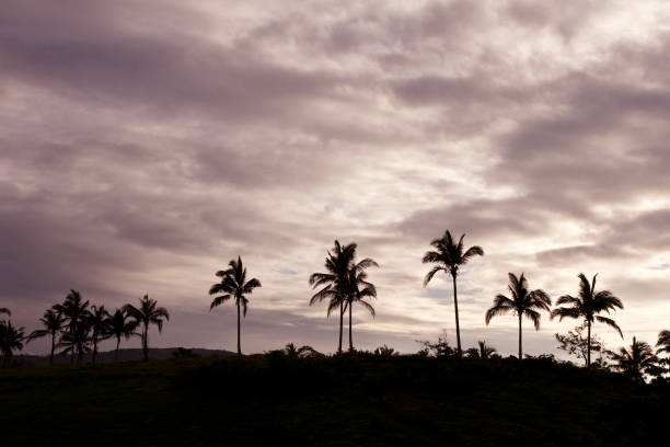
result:
<svg viewBox="0 0 670 447"><path fill-rule="evenodd" d="M5 0L0 307L32 331L70 288L111 309L149 294L171 313L150 345L233 351L234 306L209 311L208 289L241 255L263 284L243 351L333 352L308 277L337 239L380 264L355 345L416 352L455 343L450 278L423 287L449 229L485 251L459 276L465 347L516 352L515 317L484 322L508 272L554 299L598 273L624 340L596 333L654 343L668 54L665 0ZM527 320L524 352L577 324Z"/></svg>

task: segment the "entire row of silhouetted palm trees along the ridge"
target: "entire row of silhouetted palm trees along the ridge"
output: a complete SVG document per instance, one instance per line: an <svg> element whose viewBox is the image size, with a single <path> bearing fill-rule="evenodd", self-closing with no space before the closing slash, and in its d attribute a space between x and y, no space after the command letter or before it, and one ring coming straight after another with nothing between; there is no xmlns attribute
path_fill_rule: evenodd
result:
<svg viewBox="0 0 670 447"><path fill-rule="evenodd" d="M432 265L424 278L424 287L439 272L443 272L443 274L451 278L457 333L457 348L452 354L459 358L463 356L463 349L461 345L457 278L463 265L467 264L475 256L484 255L484 250L478 245L465 248L463 243L464 237L465 234L462 234L457 241L451 232L446 230L441 238L430 242L432 249L423 256L423 263ZM372 317L376 314L374 307L370 300L377 298L377 288L374 284L369 282L367 270L379 267L379 264L370 257L357 261L357 248L356 243L343 245L339 241L335 240L333 249L326 252L325 272L313 273L309 277L309 285L314 290L317 290L310 298L309 305L312 306L327 301L326 316L330 317L333 312L338 313L337 354L343 352L344 319L346 314L348 316L349 352L355 351L351 321L354 305L365 308ZM209 289L209 295L215 296L209 309L211 311L228 300L234 302L238 326L236 347L238 355L242 356L241 318L246 316L250 295L254 289L262 287L262 285L257 278L247 278L247 271L242 263L241 256L238 256L236 260L231 260L228 267L218 271L216 276L220 280ZM530 320L535 330L539 330L542 312L546 312L550 319L558 318L562 321L564 318L568 318L582 322L580 326L576 328L575 332L570 331L568 335L556 334L555 336L561 343L559 348L582 357L587 367L591 366L591 352L593 349L600 353L607 352L603 349L602 342L591 333L594 323L607 324L615 329L623 339L623 333L616 322L609 317L602 316L602 313L610 314L616 309L623 309L623 303L610 290L597 291L596 283L598 275L594 275L589 280L585 274L580 273L578 275L579 288L577 296L563 295L558 297L554 309L552 309L552 299L548 294L542 289L531 289L524 273L520 275L509 273L508 276L509 296L499 294L494 297L492 307L485 311L484 321L486 324L489 324L495 317L507 313L517 317L519 358L523 358L523 318L525 317ZM128 303L116 309L114 313L109 313L104 306L90 306L89 301L84 301L77 290L70 290L70 294L62 303L54 305L39 319L43 329L33 331L30 335L25 335L24 328L12 325L9 319L1 320L0 349L3 355L3 365L11 360L14 351L23 348L24 343L44 336L50 337L49 362L51 364L57 348L62 349L61 353L70 355L71 364L81 362L81 358L86 353L92 353L92 363L95 364L97 345L107 339L116 340L115 357L117 358L122 339L128 340L131 336L140 337L146 360L148 359L149 326L155 324L159 332L161 332L163 322L169 320L170 314L165 308L158 307L157 301L150 299L147 295L140 298L139 301L138 307ZM10 316L10 311L7 308L0 308L0 313ZM582 335L585 329L587 331L586 336ZM442 344L441 347L435 348L440 343ZM495 348L487 346L483 341L478 343L478 348L467 349L467 356L488 358L495 355ZM426 346L432 346L436 355L440 355L440 349L451 349L446 339L440 339L437 345L427 343ZM634 376L642 377L643 374L658 374L660 369L663 369L665 363L657 357L657 354L670 354L670 331L662 331L659 334L657 346L658 351L654 353L649 344L639 342L634 337L633 344L628 348L622 347L619 353L607 352L607 354L619 363L620 369L633 371Z"/></svg>

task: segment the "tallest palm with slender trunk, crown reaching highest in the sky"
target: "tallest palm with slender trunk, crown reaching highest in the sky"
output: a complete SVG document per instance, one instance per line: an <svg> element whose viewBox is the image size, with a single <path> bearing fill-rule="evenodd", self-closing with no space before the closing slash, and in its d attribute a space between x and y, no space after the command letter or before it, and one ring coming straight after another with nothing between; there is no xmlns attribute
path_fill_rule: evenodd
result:
<svg viewBox="0 0 670 447"><path fill-rule="evenodd" d="M423 263L424 264L437 264L435 265L430 272L424 278L424 287L430 283L430 279L435 276L436 273L442 271L451 275L451 279L453 282L453 309L455 311L455 320L457 320L457 346L459 357L462 354L461 351L461 328L459 325L459 300L457 298L457 276L459 275L459 267L465 265L470 259L473 256L483 256L484 250L481 247L474 245L467 250L463 248L463 238L465 234L461 236L459 243L453 241L451 233L449 230L444 231L444 236L440 239L435 239L430 242L430 245L435 247L437 251L427 251L424 254Z"/></svg>

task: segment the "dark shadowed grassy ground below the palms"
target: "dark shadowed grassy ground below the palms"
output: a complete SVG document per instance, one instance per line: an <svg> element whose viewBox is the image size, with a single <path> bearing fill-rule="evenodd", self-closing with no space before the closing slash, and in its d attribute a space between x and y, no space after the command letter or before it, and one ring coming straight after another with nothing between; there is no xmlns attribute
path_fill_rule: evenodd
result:
<svg viewBox="0 0 670 447"><path fill-rule="evenodd" d="M668 396L546 360L277 354L24 367L0 370L0 445L637 446L666 438Z"/></svg>

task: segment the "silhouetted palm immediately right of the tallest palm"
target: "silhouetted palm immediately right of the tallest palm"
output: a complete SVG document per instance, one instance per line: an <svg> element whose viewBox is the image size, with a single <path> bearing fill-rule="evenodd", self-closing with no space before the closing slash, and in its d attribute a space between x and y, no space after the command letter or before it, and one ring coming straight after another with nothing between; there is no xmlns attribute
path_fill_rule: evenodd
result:
<svg viewBox="0 0 670 447"><path fill-rule="evenodd" d="M525 316L535 325L535 331L540 330L540 312L541 310L550 311L552 299L542 290L529 290L528 279L522 273L517 277L513 273L509 273L509 293L511 298L498 294L494 298L494 305L486 311L484 320L486 325L495 316L501 316L507 312L512 312L519 317L519 359L523 358L521 346L521 317Z"/></svg>

